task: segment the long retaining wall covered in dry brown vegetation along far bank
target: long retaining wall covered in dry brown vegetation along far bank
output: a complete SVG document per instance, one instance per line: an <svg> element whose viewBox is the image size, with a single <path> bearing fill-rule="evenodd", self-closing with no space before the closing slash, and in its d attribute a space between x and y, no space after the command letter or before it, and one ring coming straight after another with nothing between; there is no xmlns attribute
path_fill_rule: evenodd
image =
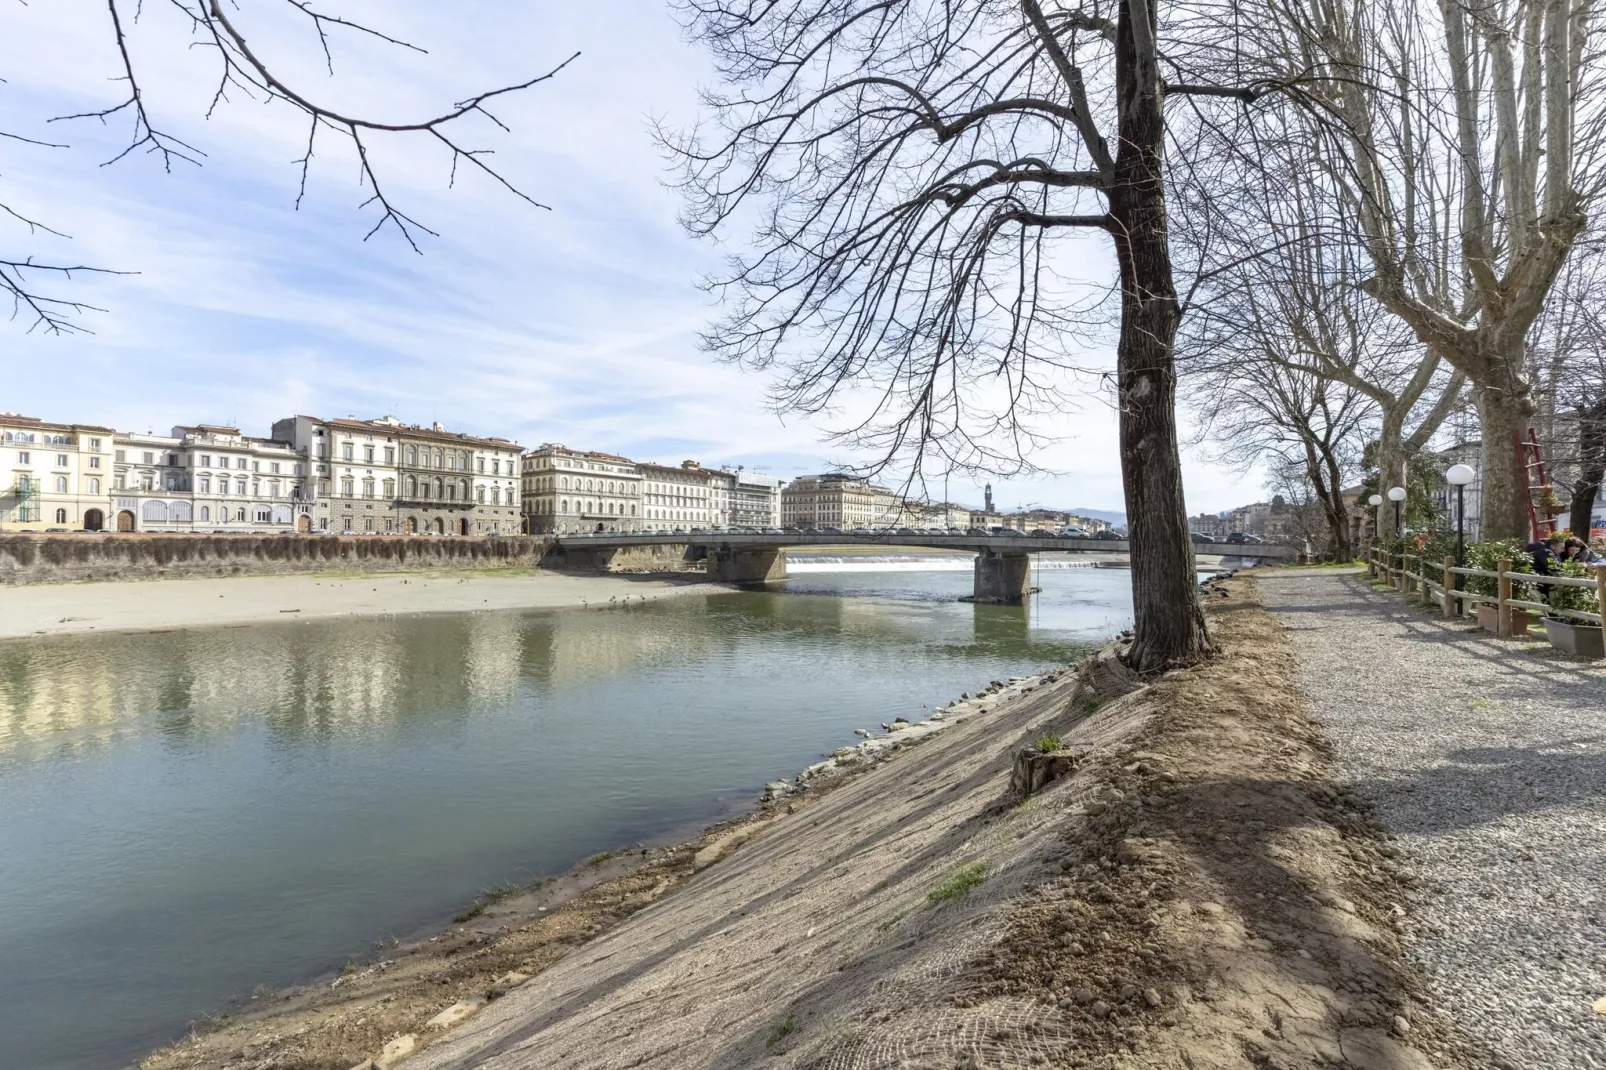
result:
<svg viewBox="0 0 1606 1070"><path fill-rule="evenodd" d="M0 585L287 572L533 567L548 537L0 535Z"/></svg>

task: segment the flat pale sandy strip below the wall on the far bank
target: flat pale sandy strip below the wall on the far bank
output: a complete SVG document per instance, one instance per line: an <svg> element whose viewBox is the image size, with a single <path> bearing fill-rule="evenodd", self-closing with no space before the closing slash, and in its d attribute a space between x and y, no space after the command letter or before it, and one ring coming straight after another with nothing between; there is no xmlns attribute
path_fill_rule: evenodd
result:
<svg viewBox="0 0 1606 1070"><path fill-rule="evenodd" d="M700 575L567 575L524 569L50 583L0 590L0 639L153 631L469 609L564 609L718 590Z"/></svg>

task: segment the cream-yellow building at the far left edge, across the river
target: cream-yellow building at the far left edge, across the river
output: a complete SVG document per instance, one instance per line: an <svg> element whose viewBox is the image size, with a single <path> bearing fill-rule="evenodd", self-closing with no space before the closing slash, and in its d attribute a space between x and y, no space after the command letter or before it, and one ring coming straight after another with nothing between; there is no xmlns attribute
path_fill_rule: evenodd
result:
<svg viewBox="0 0 1606 1070"><path fill-rule="evenodd" d="M108 527L112 431L0 413L0 530Z"/></svg>

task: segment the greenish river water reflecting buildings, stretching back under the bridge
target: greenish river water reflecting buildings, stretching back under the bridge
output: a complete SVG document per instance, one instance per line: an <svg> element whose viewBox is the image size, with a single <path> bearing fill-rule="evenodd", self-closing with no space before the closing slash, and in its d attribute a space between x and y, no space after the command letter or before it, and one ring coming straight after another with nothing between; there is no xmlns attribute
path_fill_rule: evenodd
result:
<svg viewBox="0 0 1606 1070"><path fill-rule="evenodd" d="M960 562L954 562L959 566ZM830 570L808 570L830 569ZM0 643L0 1067L104 1070L1124 628L1131 574Z"/></svg>

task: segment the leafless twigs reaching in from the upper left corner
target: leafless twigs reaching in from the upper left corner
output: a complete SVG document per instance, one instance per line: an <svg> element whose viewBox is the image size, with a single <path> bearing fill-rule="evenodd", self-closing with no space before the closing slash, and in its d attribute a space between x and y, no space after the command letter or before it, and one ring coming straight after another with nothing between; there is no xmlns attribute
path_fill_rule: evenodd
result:
<svg viewBox="0 0 1606 1070"><path fill-rule="evenodd" d="M141 0L103 0L103 6L104 31L114 47L117 64L108 80L104 103L87 111L43 116L39 122L11 120L11 125L0 127L0 145L8 146L13 153L59 151L69 148L63 138L75 124L95 122L114 129L120 127L127 132L124 148L112 159L103 161L104 164L143 157L154 159L165 170L199 167L206 159L206 151L172 132L172 127L159 114L159 101L148 92L143 79L146 61L141 42L164 43L153 39L165 37L169 39L165 43L186 42L196 63L207 64L212 92L206 98L190 101L198 111L204 111L207 119L220 114L231 103L254 101L286 108L289 114L297 116L305 124L305 151L294 164L300 178L296 194L297 206L307 194L315 156L331 141L337 141L347 149L363 190L361 207L374 214L374 223L366 238L382 230L392 230L416 252L419 236L434 235L429 227L397 202L389 182L381 174L382 167L376 162L373 149L374 143L382 138L426 140L440 149L443 177L448 182L454 182L459 172L474 172L525 202L544 207L496 169L490 149L466 138L487 130L506 132L507 127L491 109L499 109L509 96L554 77L575 56L569 56L552 69L541 71L533 77L469 93L435 114L390 117L342 106L337 100L331 100L328 85L308 85L304 84L305 79L289 74L299 66L297 59L313 58L328 69L329 76L334 76L334 47L340 39L382 42L414 53L426 51L421 45L392 37L377 26L344 18L337 10L313 6L307 0L236 0L230 3L222 0L169 0L164 5L149 5L149 11L145 10ZM26 8L10 13L6 18L18 19L24 14ZM260 43L251 43L257 42L257 31L278 19L300 22L304 39L297 47L299 55L286 55L283 50L270 51ZM275 26L275 29L287 27ZM98 79L100 74L95 77ZM85 80L88 80L88 74L85 74ZM475 125L479 125L477 132ZM18 247L26 246L29 238L40 235L64 238L66 235L51 223L55 220L43 220L27 206L0 196L0 225L10 225L13 230L13 233L0 231L0 241L13 246L13 249L0 247L0 299L10 297L11 318L27 323L29 329L55 334L82 331L85 329L82 313L96 312L96 308L72 297L71 291L63 289L63 286L74 275L108 272L111 265L40 259L26 247Z"/></svg>

